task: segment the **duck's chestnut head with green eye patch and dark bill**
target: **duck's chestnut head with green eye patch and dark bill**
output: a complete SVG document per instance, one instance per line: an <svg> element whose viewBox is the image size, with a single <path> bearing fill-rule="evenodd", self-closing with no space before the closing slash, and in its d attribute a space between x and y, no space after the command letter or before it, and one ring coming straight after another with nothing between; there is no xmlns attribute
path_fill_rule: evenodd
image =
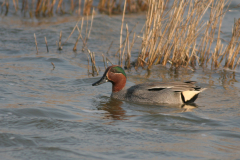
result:
<svg viewBox="0 0 240 160"><path fill-rule="evenodd" d="M113 65L109 66L103 74L102 78L99 81L93 83L92 85L98 86L105 82L111 82L112 92L119 92L124 88L126 81L126 73L124 72L122 67Z"/></svg>

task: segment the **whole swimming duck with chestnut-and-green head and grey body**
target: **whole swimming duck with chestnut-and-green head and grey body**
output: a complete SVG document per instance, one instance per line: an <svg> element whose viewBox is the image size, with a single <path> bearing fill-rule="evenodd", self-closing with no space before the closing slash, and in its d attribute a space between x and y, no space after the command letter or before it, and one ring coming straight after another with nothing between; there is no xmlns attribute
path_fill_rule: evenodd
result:
<svg viewBox="0 0 240 160"><path fill-rule="evenodd" d="M188 82L148 82L125 89L126 74L119 66L110 66L96 83L112 82L111 97L137 103L184 104L194 102L198 94L206 88L196 87L194 81Z"/></svg>

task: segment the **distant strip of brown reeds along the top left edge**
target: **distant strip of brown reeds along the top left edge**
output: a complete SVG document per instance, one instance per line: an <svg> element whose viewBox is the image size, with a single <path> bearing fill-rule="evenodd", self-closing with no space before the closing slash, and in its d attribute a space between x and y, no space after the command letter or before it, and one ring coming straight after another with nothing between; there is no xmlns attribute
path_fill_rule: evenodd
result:
<svg viewBox="0 0 240 160"><path fill-rule="evenodd" d="M93 0L5 0L1 5L1 14L7 15L9 10L15 13L21 11L30 17L46 17L54 14L90 15L93 8L98 8L100 13L108 15L121 14L122 0L99 0L93 4ZM128 0L127 13L145 11L147 3L144 0Z"/></svg>

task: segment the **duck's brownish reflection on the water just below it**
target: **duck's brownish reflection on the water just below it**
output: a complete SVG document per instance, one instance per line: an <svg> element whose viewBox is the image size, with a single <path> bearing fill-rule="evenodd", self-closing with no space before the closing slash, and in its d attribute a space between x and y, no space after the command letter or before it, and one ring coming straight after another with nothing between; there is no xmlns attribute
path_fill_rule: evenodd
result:
<svg viewBox="0 0 240 160"><path fill-rule="evenodd" d="M147 105L147 104L132 104L131 102L127 102L127 108L138 111L138 112L145 112L150 114L157 114L157 113L181 113L181 112L191 112L193 109L197 108L196 104L165 104L165 105ZM99 104L98 109L107 111L104 115L104 118L107 119L114 119L114 120L126 120L129 117L134 115L126 115L126 110L124 110L123 106L124 102L109 98L104 99ZM130 104L130 105L129 105Z"/></svg>

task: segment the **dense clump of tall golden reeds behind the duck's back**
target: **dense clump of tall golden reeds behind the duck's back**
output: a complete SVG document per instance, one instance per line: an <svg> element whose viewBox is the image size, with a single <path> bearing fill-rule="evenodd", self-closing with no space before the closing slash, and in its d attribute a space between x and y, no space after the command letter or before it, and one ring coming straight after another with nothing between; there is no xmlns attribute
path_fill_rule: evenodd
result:
<svg viewBox="0 0 240 160"><path fill-rule="evenodd" d="M235 69L239 64L240 20L233 26L232 38L222 43L221 26L229 0L148 0L147 20L137 66L170 63L173 67L197 65ZM203 16L208 12L209 19Z"/></svg>

